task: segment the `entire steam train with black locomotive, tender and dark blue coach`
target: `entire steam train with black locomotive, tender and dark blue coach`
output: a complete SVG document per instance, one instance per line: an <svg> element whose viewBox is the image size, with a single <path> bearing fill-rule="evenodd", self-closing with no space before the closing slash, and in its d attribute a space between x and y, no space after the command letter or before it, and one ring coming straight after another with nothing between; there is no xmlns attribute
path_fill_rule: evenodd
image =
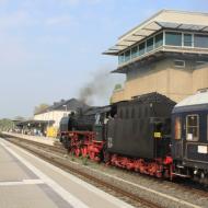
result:
<svg viewBox="0 0 208 208"><path fill-rule="evenodd" d="M208 91L176 104L157 92L60 122L60 141L77 157L172 180L208 184Z"/></svg>

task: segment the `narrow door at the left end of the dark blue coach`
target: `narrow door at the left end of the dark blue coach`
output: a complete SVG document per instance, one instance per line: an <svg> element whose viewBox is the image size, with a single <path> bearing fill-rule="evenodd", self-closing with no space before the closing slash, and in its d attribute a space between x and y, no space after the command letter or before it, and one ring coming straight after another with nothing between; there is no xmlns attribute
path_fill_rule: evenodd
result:
<svg viewBox="0 0 208 208"><path fill-rule="evenodd" d="M182 159L183 158L183 143L184 139L182 138L182 117L175 116L174 119L174 158Z"/></svg>

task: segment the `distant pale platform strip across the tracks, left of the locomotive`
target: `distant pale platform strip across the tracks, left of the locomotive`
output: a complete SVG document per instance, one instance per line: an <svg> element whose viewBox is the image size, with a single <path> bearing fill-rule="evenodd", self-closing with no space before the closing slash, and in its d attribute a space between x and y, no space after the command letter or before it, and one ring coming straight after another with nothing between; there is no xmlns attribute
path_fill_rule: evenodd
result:
<svg viewBox="0 0 208 208"><path fill-rule="evenodd" d="M50 138L50 137L38 137L38 136L32 136L32 135L23 135L23 134L15 134L15 132L5 132L3 131L4 135L9 136L14 136L19 137L21 139L27 139L27 140L33 140L37 141L41 143L46 143L49 146L54 146L54 142L57 140L56 138Z"/></svg>

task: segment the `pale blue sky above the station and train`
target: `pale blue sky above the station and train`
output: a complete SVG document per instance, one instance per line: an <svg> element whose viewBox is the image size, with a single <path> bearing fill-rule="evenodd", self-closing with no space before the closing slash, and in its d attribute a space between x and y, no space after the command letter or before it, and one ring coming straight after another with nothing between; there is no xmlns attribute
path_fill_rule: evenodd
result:
<svg viewBox="0 0 208 208"><path fill-rule="evenodd" d="M94 104L107 104L124 77L97 76L117 65L101 53L161 9L208 12L208 1L0 0L0 117L32 116L39 103L79 97L93 80L102 88Z"/></svg>

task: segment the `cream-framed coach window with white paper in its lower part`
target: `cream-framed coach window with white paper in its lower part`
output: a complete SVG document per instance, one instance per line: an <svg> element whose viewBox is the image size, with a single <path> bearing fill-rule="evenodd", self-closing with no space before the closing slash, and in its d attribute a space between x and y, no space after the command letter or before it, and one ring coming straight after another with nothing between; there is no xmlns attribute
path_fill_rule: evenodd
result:
<svg viewBox="0 0 208 208"><path fill-rule="evenodd" d="M186 140L198 141L199 139L199 117L198 115L186 116Z"/></svg>

